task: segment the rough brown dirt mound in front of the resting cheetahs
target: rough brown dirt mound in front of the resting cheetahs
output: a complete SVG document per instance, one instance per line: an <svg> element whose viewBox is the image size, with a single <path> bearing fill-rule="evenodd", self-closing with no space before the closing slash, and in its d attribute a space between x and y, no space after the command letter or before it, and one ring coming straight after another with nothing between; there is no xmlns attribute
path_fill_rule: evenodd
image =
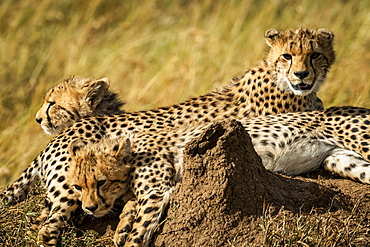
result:
<svg viewBox="0 0 370 247"><path fill-rule="evenodd" d="M342 193L267 171L243 127L219 122L188 144L183 181L153 245L245 246L258 227L250 216L261 216L264 209L276 214L271 208L281 207L310 213L312 208L328 212L352 205Z"/></svg>

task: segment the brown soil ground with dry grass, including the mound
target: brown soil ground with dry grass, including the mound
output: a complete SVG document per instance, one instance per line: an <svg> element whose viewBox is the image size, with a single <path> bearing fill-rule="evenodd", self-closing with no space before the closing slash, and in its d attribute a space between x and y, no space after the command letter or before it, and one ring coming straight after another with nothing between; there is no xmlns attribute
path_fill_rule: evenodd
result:
<svg viewBox="0 0 370 247"><path fill-rule="evenodd" d="M151 246L370 246L369 189L323 170L269 172L239 122L217 122L187 145L183 181ZM10 229L22 217L22 204L16 207L0 212ZM75 217L62 245L114 246L119 210L110 218ZM87 235L96 240L86 242Z"/></svg>

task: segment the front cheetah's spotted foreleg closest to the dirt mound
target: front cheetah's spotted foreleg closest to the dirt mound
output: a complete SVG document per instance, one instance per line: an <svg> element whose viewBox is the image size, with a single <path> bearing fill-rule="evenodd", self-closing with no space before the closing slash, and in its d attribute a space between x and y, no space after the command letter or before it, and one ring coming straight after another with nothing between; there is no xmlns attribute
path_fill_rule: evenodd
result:
<svg viewBox="0 0 370 247"><path fill-rule="evenodd" d="M159 224L163 212L168 204L171 191L152 191L140 196L137 206L137 215L126 244L124 246L148 246L150 238Z"/></svg>

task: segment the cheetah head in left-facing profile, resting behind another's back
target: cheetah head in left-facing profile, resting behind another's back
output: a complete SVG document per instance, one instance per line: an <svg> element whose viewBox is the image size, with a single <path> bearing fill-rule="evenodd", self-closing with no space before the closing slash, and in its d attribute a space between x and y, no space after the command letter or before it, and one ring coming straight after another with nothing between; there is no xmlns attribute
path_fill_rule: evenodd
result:
<svg viewBox="0 0 370 247"><path fill-rule="evenodd" d="M46 134L54 135L86 116L122 113L122 101L108 89L107 78L65 79L46 93L36 121Z"/></svg>

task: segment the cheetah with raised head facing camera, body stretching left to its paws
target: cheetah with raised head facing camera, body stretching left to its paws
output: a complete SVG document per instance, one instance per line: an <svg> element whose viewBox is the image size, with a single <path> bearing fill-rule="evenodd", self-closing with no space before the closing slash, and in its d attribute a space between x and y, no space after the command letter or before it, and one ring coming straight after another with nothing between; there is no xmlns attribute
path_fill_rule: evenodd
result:
<svg viewBox="0 0 370 247"><path fill-rule="evenodd" d="M68 219L77 207L77 199L65 183L71 158L68 145L72 140L93 143L105 136L125 135L128 131L157 133L161 130L179 137L184 135L185 126L193 126L186 130L191 132L191 128L207 126L217 119L243 120L258 115L322 109L316 91L334 61L332 32L272 29L266 32L265 38L271 46L267 59L221 90L157 110L83 118L73 124L56 136L7 189L6 200L10 203L23 200L33 184L41 180L47 188L51 210L39 238L40 243L52 246L57 242L61 219ZM153 147L154 143L145 145ZM63 189L59 189L60 186L64 186Z"/></svg>

